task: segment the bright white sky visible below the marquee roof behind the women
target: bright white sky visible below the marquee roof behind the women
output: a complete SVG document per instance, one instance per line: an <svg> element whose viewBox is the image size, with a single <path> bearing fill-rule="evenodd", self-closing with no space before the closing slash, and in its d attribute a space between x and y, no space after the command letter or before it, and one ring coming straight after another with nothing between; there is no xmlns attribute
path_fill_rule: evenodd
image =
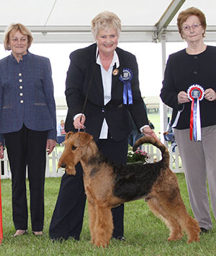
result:
<svg viewBox="0 0 216 256"><path fill-rule="evenodd" d="M84 48L89 43L32 43L30 52L50 58L53 71L55 97L64 97L66 72L70 63L69 55L73 50ZM185 43L167 43L166 55L185 48ZM138 61L140 91L143 97L158 96L163 79L161 43L119 43L120 48L133 53ZM5 51L0 44L0 58L11 52Z"/></svg>

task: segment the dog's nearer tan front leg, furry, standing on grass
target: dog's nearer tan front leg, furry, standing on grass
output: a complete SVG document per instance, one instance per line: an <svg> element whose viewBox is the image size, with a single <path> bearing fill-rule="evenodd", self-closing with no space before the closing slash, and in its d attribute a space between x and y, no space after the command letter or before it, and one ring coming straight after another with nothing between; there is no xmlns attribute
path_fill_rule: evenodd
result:
<svg viewBox="0 0 216 256"><path fill-rule="evenodd" d="M113 231L112 212L110 208L96 206L94 231L94 245L96 247L107 247Z"/></svg>

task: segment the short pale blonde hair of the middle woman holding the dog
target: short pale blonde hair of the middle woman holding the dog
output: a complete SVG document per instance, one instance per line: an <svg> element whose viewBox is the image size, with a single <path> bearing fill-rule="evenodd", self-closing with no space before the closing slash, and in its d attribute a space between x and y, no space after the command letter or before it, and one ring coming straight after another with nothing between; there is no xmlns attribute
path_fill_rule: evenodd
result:
<svg viewBox="0 0 216 256"><path fill-rule="evenodd" d="M91 32L96 39L96 35L99 30L104 30L107 27L114 27L117 31L117 35L121 32L121 20L113 12L101 12L94 17L91 21Z"/></svg>

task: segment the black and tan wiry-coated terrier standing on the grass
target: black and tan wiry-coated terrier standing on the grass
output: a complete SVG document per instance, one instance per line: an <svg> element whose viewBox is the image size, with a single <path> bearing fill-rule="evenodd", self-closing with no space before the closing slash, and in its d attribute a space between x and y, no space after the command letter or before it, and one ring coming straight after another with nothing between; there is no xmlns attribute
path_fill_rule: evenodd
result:
<svg viewBox="0 0 216 256"><path fill-rule="evenodd" d="M187 243L199 242L199 225L189 216L181 199L177 177L169 169L168 149L160 141L144 136L136 141L133 150L143 143L157 146L161 161L124 166L107 159L89 133L67 133L58 167L65 168L68 175L76 175L75 166L81 162L89 203L91 243L107 247L114 228L111 209L142 198L170 229L168 241L180 240L185 231Z"/></svg>

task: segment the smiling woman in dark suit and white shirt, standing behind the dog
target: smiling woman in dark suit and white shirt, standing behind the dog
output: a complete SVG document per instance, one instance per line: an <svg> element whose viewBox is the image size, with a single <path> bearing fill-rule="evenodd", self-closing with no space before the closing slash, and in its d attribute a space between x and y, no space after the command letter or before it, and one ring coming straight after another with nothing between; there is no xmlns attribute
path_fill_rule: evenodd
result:
<svg viewBox="0 0 216 256"><path fill-rule="evenodd" d="M127 136L132 131L129 111L140 132L156 135L148 126L136 58L117 48L120 30L117 15L102 12L92 21L96 43L71 53L66 79L66 131L77 131L85 125L86 132L94 136L105 156L126 164ZM126 83L129 87L123 97ZM82 175L80 164L76 166L75 176L63 175L50 224L51 239L80 237L86 203ZM124 206L112 209L112 214L112 237L122 240Z"/></svg>

